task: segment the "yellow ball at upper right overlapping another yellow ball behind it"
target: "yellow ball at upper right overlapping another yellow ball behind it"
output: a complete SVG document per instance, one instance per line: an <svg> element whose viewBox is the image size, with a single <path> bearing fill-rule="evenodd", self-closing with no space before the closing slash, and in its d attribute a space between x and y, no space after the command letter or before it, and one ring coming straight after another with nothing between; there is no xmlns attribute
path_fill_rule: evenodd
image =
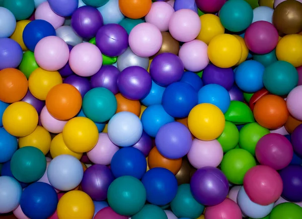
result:
<svg viewBox="0 0 302 219"><path fill-rule="evenodd" d="M231 68L241 59L242 46L231 34L215 36L208 46L208 57L211 63L220 68Z"/></svg>

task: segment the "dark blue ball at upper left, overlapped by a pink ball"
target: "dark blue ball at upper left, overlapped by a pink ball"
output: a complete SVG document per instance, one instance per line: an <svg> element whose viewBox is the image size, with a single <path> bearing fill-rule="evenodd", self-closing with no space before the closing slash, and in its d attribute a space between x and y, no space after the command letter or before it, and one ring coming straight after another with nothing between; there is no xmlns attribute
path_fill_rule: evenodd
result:
<svg viewBox="0 0 302 219"><path fill-rule="evenodd" d="M26 47L34 51L37 43L46 36L55 36L54 27L47 21L34 20L25 26L23 41Z"/></svg>

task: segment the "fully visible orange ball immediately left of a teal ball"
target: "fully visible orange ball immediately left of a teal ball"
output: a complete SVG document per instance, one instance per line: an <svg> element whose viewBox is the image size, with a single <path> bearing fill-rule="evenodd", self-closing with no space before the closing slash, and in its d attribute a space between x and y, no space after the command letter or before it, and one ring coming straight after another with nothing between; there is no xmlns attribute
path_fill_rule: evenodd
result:
<svg viewBox="0 0 302 219"><path fill-rule="evenodd" d="M69 120L81 110L81 93L70 84L58 84L48 92L46 107L57 120Z"/></svg>

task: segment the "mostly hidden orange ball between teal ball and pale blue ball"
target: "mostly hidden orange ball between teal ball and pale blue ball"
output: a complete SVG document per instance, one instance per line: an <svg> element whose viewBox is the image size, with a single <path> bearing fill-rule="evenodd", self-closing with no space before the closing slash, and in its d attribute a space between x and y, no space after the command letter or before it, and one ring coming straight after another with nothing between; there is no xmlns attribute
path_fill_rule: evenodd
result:
<svg viewBox="0 0 302 219"><path fill-rule="evenodd" d="M127 111L135 114L139 117L140 115L140 102L139 100L130 100L123 97L122 94L118 93L115 95L117 101L116 113Z"/></svg>

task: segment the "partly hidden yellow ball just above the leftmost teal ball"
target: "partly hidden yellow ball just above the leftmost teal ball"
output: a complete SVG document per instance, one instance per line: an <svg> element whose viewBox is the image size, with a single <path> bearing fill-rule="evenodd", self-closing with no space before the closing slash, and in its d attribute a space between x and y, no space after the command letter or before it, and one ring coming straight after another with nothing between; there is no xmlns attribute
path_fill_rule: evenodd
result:
<svg viewBox="0 0 302 219"><path fill-rule="evenodd" d="M31 134L19 138L19 147L33 146L47 154L50 148L51 136L42 126L37 126Z"/></svg>

